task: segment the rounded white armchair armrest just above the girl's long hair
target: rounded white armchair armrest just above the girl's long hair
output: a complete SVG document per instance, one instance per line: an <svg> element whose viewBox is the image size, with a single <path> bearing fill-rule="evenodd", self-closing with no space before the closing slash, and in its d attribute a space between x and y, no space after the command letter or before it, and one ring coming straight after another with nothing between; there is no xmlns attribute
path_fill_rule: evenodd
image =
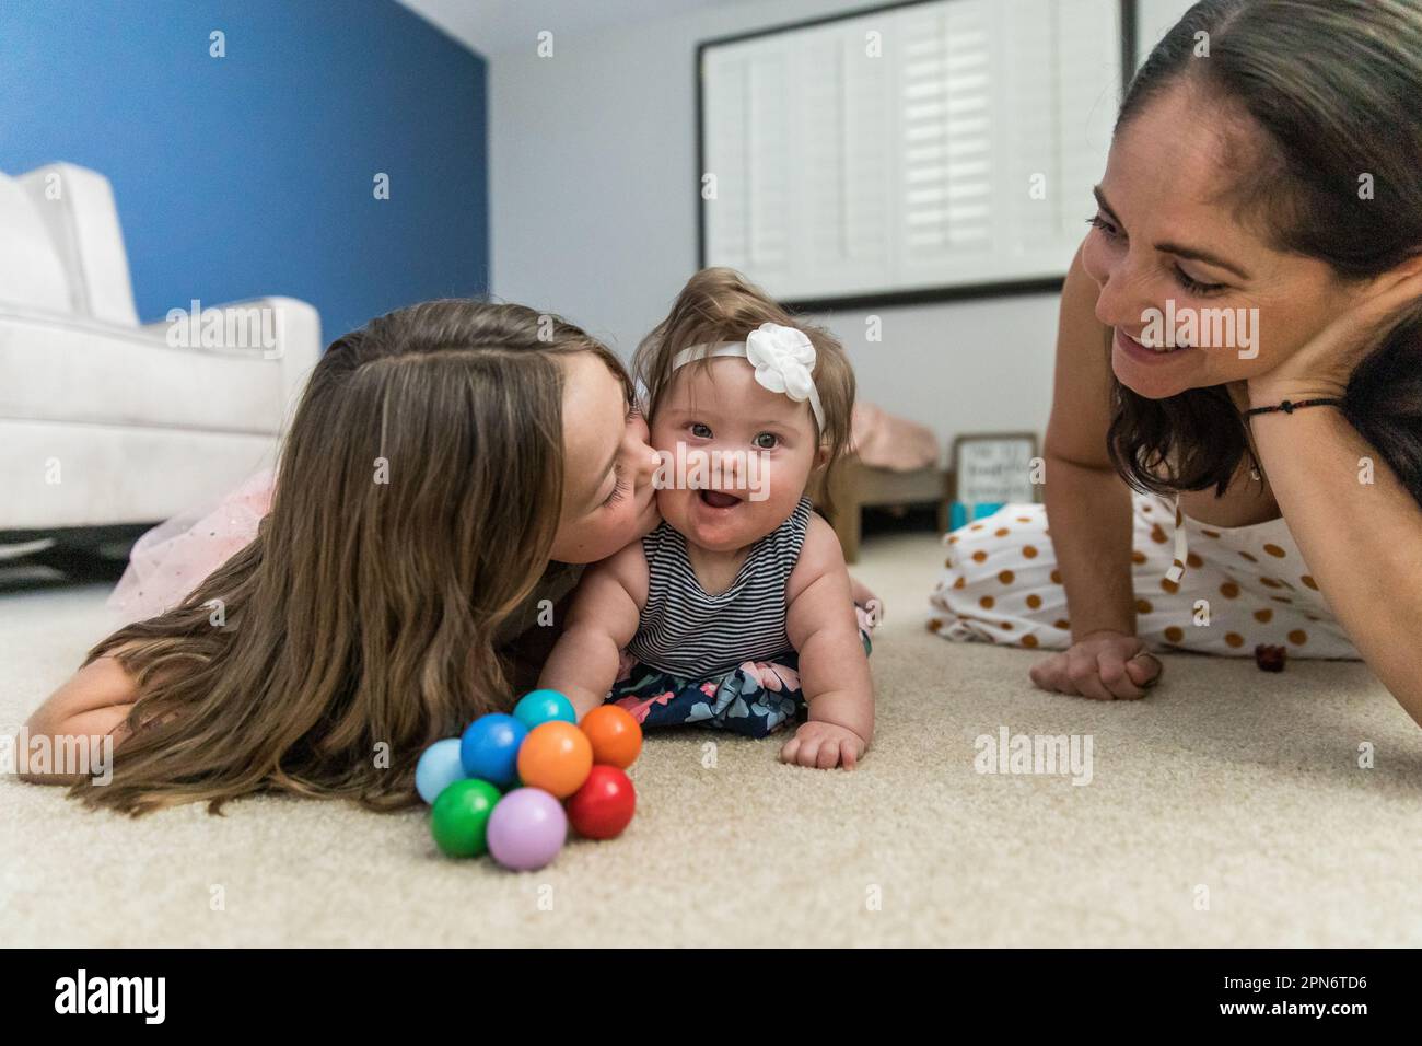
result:
<svg viewBox="0 0 1422 1046"><path fill-rule="evenodd" d="M250 352L277 361L287 418L321 356L320 313L294 297L253 297L208 306L198 315L172 309L168 319L145 323L141 330L173 347Z"/></svg>

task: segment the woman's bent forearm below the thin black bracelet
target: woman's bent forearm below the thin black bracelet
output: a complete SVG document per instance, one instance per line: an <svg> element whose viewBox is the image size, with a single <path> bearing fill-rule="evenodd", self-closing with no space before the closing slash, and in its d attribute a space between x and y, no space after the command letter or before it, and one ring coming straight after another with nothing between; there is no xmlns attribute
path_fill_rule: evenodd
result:
<svg viewBox="0 0 1422 1046"><path fill-rule="evenodd" d="M1251 421L1310 575L1358 653L1422 726L1422 508L1341 411L1307 407Z"/></svg>

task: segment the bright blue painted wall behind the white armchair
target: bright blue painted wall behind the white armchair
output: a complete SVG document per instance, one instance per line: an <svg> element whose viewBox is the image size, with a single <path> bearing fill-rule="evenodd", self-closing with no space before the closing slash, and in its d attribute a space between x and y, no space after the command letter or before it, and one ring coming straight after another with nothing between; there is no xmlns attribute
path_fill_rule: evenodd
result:
<svg viewBox="0 0 1422 1046"><path fill-rule="evenodd" d="M142 320L286 295L330 343L486 292L485 100L394 0L0 0L0 171L108 176Z"/></svg>

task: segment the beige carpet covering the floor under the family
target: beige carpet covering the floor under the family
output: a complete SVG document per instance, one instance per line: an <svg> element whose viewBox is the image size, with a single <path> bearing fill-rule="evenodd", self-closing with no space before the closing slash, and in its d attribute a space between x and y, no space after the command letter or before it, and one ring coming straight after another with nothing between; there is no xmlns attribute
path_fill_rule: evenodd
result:
<svg viewBox="0 0 1422 1046"><path fill-rule="evenodd" d="M657 736L627 834L522 875L439 857L419 813L262 798L128 821L6 777L0 941L1422 944L1422 731L1367 669L1172 657L1145 702L1045 694L1032 655L923 629L939 562L930 537L865 549L887 619L856 773L782 767L778 741ZM102 595L0 595L0 727L98 638ZM1001 726L1089 734L1091 783L977 773L974 739Z"/></svg>

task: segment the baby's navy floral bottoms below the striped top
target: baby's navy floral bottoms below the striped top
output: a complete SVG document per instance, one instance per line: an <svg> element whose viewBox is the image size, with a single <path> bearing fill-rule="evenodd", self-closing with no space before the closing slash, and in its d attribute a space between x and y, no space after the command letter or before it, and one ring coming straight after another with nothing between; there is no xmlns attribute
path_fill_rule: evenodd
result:
<svg viewBox="0 0 1422 1046"><path fill-rule="evenodd" d="M867 655L875 622L865 608L856 611L859 640ZM805 710L799 655L786 650L768 662L742 662L729 672L702 677L677 676L623 655L617 682L604 703L627 709L643 729L708 726L765 737Z"/></svg>

